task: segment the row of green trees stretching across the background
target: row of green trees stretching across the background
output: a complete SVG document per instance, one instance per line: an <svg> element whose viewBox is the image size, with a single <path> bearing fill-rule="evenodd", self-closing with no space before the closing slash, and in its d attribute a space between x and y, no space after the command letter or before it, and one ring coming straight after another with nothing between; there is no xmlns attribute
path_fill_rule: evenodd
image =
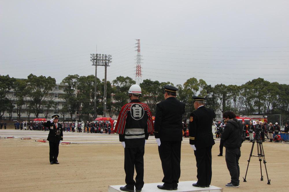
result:
<svg viewBox="0 0 289 192"><path fill-rule="evenodd" d="M49 110L58 109L60 116L75 113L79 119L90 120L94 113L94 84L95 76L68 75L61 85L64 94L59 98L64 102L59 108L51 95L55 87L55 79L52 77L28 75L27 79L15 79L9 75L0 75L0 119L4 112L9 113L11 119L13 109L16 109L18 119L27 113L36 117L44 113L48 117ZM136 82L130 77L119 76L112 82L107 81L107 114L112 117L118 115L121 107L129 102L129 87ZM155 106L164 100L164 85L173 85L171 82L143 80L140 83L142 96L140 100L148 104L152 114L155 114ZM289 114L289 85L269 82L262 78L253 79L240 86L217 84L208 85L203 79L192 77L183 85L173 85L179 89L177 99L186 104L184 120L194 110L192 96L207 98L206 105L214 111L234 111L240 115L270 115ZM11 90L13 95L8 94ZM76 90L76 91L75 91ZM104 79L97 78L97 114L103 114ZM13 103L16 102L16 103Z"/></svg>

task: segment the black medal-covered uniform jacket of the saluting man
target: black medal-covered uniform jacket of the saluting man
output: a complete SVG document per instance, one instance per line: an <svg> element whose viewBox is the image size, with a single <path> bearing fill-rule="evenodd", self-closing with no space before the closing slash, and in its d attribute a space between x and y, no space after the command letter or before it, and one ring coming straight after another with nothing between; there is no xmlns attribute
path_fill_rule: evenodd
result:
<svg viewBox="0 0 289 192"><path fill-rule="evenodd" d="M43 125L49 128L49 134L47 137L49 142L59 143L60 140L63 140L62 125L60 123L57 124L57 129L55 128L55 124L50 121L46 121Z"/></svg>

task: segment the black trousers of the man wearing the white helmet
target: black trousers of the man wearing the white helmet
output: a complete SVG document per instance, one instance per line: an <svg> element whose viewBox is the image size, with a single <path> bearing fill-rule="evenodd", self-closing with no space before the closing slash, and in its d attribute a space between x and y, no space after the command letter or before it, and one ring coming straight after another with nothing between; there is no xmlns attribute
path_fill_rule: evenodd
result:
<svg viewBox="0 0 289 192"><path fill-rule="evenodd" d="M136 181L134 181L136 167ZM142 189L144 186L144 147L125 148L125 183L127 189Z"/></svg>

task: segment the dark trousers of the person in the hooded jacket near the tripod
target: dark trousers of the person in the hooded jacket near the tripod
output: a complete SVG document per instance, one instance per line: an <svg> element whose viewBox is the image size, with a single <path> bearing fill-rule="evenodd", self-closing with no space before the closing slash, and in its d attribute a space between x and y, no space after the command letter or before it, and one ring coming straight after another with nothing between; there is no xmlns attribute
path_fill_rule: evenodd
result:
<svg viewBox="0 0 289 192"><path fill-rule="evenodd" d="M241 157L240 148L226 148L226 164L231 175L231 183L233 185L239 185L240 167L239 159Z"/></svg>

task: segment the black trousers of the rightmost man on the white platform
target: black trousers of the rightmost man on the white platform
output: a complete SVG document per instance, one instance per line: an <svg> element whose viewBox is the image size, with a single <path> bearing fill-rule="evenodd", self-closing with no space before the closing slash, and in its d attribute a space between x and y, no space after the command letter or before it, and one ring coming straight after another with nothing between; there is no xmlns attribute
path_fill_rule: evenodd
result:
<svg viewBox="0 0 289 192"><path fill-rule="evenodd" d="M212 180L212 146L194 151L199 185L210 185Z"/></svg>

